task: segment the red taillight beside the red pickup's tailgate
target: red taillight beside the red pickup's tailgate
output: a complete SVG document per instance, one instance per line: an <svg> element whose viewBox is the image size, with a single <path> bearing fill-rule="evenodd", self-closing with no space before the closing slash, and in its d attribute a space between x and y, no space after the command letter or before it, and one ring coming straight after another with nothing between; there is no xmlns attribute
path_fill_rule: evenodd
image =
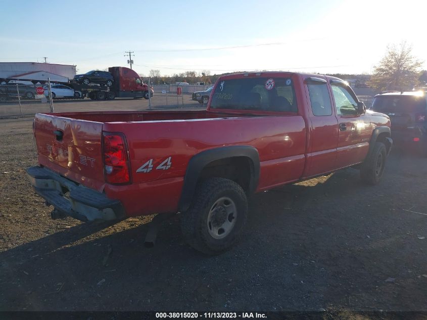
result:
<svg viewBox="0 0 427 320"><path fill-rule="evenodd" d="M104 174L108 183L129 184L130 163L126 138L120 132L103 132Z"/></svg>

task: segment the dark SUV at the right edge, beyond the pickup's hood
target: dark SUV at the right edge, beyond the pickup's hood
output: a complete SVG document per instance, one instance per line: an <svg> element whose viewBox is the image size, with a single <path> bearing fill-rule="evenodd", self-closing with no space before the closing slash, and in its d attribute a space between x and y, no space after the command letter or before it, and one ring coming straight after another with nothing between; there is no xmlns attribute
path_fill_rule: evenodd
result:
<svg viewBox="0 0 427 320"><path fill-rule="evenodd" d="M389 115L396 145L412 145L427 156L427 100L422 92L376 95L370 110Z"/></svg>

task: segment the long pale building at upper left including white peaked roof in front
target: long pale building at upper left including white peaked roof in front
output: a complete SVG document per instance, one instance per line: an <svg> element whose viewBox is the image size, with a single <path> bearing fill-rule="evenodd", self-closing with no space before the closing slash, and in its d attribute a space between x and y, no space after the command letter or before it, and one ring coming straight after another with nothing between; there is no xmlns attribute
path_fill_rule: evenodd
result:
<svg viewBox="0 0 427 320"><path fill-rule="evenodd" d="M46 80L56 77L56 81L68 81L74 78L76 66L39 63L39 62L0 62L0 78L22 78L32 80ZM52 75L52 77L51 77ZM36 77L36 78L34 78Z"/></svg>

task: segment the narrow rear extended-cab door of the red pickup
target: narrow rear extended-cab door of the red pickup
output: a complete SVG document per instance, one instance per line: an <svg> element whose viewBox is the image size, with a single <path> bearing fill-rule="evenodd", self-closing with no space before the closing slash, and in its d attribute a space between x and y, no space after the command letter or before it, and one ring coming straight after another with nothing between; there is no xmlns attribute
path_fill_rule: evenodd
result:
<svg viewBox="0 0 427 320"><path fill-rule="evenodd" d="M339 133L326 79L307 77L304 83L311 122L304 177L310 177L336 169Z"/></svg>

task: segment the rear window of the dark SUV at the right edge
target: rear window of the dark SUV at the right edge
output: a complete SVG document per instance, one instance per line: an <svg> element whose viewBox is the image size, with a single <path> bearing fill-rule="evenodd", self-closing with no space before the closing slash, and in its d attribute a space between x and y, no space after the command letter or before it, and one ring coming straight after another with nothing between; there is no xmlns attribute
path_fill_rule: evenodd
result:
<svg viewBox="0 0 427 320"><path fill-rule="evenodd" d="M427 103L424 97L417 96L378 96L370 110L383 113L425 112Z"/></svg>

